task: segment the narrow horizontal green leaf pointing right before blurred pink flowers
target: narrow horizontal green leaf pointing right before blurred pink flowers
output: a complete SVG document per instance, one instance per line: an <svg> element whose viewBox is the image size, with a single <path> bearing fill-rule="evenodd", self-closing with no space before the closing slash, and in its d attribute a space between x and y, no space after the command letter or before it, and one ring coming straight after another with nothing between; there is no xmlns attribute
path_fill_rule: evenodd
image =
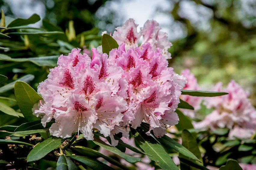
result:
<svg viewBox="0 0 256 170"><path fill-rule="evenodd" d="M191 95L191 96L203 96L203 97L215 97L221 95L227 95L227 92L209 92L209 91L200 91L200 90L181 90L182 95Z"/></svg>

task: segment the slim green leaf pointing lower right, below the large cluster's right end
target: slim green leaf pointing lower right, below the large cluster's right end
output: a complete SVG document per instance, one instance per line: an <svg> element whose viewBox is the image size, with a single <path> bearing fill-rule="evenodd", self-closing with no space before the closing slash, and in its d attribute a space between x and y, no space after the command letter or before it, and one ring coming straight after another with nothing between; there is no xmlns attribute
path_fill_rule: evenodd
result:
<svg viewBox="0 0 256 170"><path fill-rule="evenodd" d="M193 160L197 160L200 162L200 160L192 152L190 152L187 148L185 148L183 145L179 144L169 136L164 135L163 137L158 139L167 146L169 146L170 148L174 149L175 151L185 155L186 157L189 157Z"/></svg>

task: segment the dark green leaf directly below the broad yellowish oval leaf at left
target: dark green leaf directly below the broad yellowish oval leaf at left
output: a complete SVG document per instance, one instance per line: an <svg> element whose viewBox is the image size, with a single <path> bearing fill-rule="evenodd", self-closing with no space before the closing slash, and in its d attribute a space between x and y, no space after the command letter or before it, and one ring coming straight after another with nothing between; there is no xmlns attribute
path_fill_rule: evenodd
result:
<svg viewBox="0 0 256 170"><path fill-rule="evenodd" d="M50 122L48 122L46 124L46 127L44 128L42 123L41 123L41 119L40 120L36 120L36 121L32 121L32 122L26 122L23 123L22 125L18 126L14 132L18 132L18 131L27 131L27 130L37 130L37 129L48 129L50 128L50 126L55 123L55 120L51 120Z"/></svg>

